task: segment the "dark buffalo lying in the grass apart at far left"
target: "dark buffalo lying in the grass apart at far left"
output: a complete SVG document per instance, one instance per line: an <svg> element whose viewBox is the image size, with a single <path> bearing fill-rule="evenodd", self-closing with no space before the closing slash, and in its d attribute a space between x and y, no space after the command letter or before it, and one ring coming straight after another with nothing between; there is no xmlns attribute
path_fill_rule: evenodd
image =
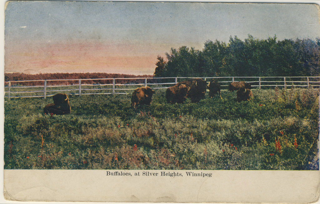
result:
<svg viewBox="0 0 320 204"><path fill-rule="evenodd" d="M71 112L69 98L65 93L58 93L52 97L53 103L44 107L44 114L65 115Z"/></svg>

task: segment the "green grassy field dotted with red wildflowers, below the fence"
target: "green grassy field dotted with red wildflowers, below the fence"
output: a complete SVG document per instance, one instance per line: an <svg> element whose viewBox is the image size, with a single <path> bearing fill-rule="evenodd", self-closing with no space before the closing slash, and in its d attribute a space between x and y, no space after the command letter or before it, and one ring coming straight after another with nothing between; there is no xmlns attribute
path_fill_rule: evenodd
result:
<svg viewBox="0 0 320 204"><path fill-rule="evenodd" d="M318 90L253 90L254 98L150 106L131 95L69 96L71 114L44 115L52 97L4 103L5 169L317 170Z"/></svg>

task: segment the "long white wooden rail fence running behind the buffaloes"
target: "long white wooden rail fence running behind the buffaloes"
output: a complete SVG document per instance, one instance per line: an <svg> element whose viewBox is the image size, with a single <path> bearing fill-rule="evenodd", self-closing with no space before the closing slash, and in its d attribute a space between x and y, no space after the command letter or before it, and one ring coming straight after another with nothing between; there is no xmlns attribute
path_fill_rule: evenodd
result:
<svg viewBox="0 0 320 204"><path fill-rule="evenodd" d="M166 89L178 82L196 77L159 77L159 78L99 78L99 79L50 79L4 82L4 97L35 98L50 97L57 93L70 95L130 94L138 87ZM198 77L207 84L215 79L221 90L228 90L231 82L245 81L252 89L282 87L291 89L319 88L320 77Z"/></svg>

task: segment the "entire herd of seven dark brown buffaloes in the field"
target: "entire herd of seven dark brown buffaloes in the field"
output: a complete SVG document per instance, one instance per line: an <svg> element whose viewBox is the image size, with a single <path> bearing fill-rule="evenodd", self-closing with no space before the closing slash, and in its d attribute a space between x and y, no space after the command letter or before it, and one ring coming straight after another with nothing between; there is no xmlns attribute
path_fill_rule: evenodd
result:
<svg viewBox="0 0 320 204"><path fill-rule="evenodd" d="M209 84L201 78L189 79L181 81L174 86L167 88L166 99L169 104L183 104L186 98L190 98L191 102L196 103L204 99L205 92L209 90L209 97L218 95L221 99L220 84L212 79ZM229 84L229 91L236 92L236 100L238 102L250 100L253 97L251 85L244 81L232 82ZM131 97L131 106L137 108L138 105L150 105L152 95L155 91L150 87L141 87L133 91ZM45 114L64 115L71 111L67 94L58 93L53 97L53 103L44 107Z"/></svg>

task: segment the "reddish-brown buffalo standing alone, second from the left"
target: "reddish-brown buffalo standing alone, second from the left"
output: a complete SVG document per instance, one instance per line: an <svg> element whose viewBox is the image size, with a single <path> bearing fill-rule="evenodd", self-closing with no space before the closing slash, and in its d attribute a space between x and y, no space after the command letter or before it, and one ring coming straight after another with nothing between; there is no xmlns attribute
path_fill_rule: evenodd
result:
<svg viewBox="0 0 320 204"><path fill-rule="evenodd" d="M150 87L141 87L137 88L133 91L132 97L131 97L131 105L134 108L137 108L137 105L150 105L152 102L152 94L155 91L153 91Z"/></svg>

